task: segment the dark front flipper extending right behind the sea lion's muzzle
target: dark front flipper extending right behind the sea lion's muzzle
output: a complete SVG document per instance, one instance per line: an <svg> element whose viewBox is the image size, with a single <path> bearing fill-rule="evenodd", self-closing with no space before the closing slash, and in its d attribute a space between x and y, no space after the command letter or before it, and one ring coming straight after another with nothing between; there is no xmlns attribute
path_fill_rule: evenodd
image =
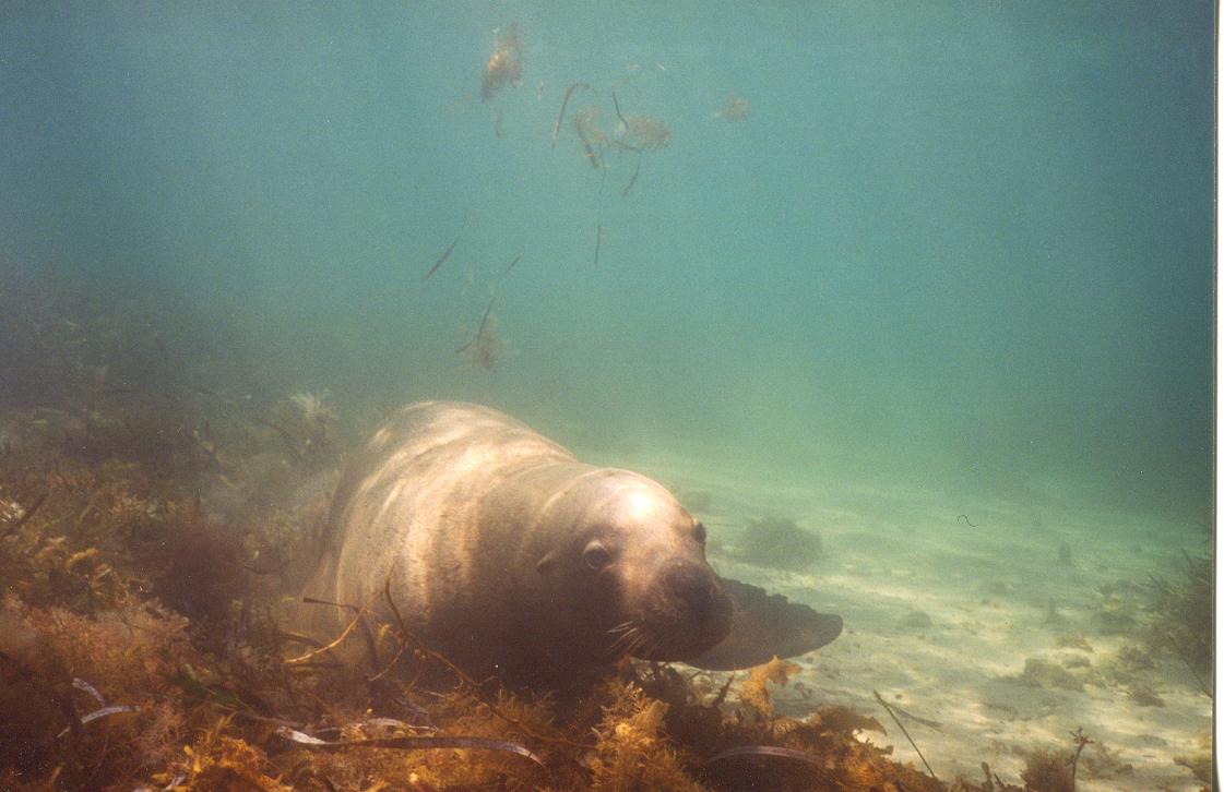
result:
<svg viewBox="0 0 1224 792"><path fill-rule="evenodd" d="M793 658L819 649L841 634L841 616L818 614L781 594L722 578L734 600L731 633L722 643L692 660L692 666L710 671L750 669L769 662L774 655Z"/></svg>

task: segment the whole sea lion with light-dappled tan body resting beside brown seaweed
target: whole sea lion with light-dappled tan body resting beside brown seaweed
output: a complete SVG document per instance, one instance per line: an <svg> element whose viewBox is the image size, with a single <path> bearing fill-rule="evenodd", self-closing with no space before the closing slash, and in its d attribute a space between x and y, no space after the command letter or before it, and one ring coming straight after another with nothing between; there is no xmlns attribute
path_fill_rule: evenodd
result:
<svg viewBox="0 0 1224 792"><path fill-rule="evenodd" d="M308 596L393 623L386 588L405 627L477 678L557 681L623 655L747 667L841 632L837 616L722 581L705 527L657 482L476 405L410 405L378 429L326 545ZM313 607L321 636L350 618Z"/></svg>

